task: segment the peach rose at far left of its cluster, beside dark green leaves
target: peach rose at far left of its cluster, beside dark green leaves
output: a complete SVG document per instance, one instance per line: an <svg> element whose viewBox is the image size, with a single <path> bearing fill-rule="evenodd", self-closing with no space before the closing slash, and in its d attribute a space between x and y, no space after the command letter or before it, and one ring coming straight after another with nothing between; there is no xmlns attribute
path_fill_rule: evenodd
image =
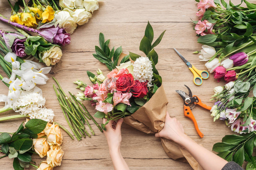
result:
<svg viewBox="0 0 256 170"><path fill-rule="evenodd" d="M34 145L35 152L38 153L38 155L41 158L43 158L47 154L47 151L49 150L47 139L44 137L33 139L33 145Z"/></svg>

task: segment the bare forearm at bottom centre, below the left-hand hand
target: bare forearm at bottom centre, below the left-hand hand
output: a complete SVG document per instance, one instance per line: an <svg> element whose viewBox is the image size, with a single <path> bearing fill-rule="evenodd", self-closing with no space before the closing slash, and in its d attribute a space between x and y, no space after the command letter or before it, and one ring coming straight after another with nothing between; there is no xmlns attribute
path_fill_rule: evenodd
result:
<svg viewBox="0 0 256 170"><path fill-rule="evenodd" d="M121 155L120 148L109 149L110 157L114 165L115 170L129 170L127 163Z"/></svg>

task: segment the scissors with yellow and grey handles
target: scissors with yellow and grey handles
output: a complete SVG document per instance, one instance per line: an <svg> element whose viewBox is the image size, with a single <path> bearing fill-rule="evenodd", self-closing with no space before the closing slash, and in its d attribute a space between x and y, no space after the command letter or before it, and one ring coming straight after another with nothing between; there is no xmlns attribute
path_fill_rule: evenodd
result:
<svg viewBox="0 0 256 170"><path fill-rule="evenodd" d="M193 66L190 62L188 62L188 60L186 60L175 48L174 50L177 52L177 54L179 55L179 57L186 63L186 65L188 66L189 70L193 73L194 75L194 84L197 85L197 86L200 86L202 84L202 79L207 79L209 78L209 73L208 71L206 70L198 70L197 68L195 68L195 66ZM207 76L204 77L202 74L203 73L206 73ZM199 79L200 80L200 83L197 84L196 83L196 79Z"/></svg>

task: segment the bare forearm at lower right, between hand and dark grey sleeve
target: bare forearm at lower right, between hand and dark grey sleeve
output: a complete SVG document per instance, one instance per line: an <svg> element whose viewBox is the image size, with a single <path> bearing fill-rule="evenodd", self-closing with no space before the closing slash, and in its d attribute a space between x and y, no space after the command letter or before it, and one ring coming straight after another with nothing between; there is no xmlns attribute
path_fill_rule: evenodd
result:
<svg viewBox="0 0 256 170"><path fill-rule="evenodd" d="M226 160L197 144L187 135L182 137L180 145L184 147L205 170L221 170L227 163Z"/></svg>

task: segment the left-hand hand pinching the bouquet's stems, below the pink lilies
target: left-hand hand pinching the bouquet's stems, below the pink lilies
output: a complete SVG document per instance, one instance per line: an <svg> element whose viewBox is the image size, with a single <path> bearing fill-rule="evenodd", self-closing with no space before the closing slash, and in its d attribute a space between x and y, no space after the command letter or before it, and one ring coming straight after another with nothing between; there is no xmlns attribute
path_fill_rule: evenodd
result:
<svg viewBox="0 0 256 170"><path fill-rule="evenodd" d="M107 119L103 119L103 124L105 124ZM117 122L109 121L106 124L104 134L107 138L107 144L109 146L110 153L117 152L120 150L122 136L121 136L121 125L124 121L124 118L118 119Z"/></svg>

